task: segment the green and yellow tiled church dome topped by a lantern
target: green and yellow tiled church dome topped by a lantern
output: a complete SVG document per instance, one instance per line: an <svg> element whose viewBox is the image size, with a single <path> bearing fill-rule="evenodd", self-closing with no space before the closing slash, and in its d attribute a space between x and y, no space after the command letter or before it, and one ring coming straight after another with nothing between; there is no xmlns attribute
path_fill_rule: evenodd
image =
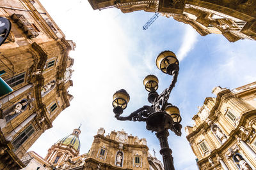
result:
<svg viewBox="0 0 256 170"><path fill-rule="evenodd" d="M72 132L72 134L66 136L65 138L58 140L58 142L56 144L60 143L62 145L71 146L76 151L79 151L80 145L81 145L81 143L79 141L80 133L81 133L80 127L79 127L79 129L74 129L74 132Z"/></svg>

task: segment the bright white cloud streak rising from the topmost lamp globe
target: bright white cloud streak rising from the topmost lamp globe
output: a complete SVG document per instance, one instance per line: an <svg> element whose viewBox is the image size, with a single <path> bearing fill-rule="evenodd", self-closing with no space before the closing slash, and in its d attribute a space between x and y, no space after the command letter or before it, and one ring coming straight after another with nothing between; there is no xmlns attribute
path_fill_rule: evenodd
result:
<svg viewBox="0 0 256 170"><path fill-rule="evenodd" d="M198 33L191 26L186 25L183 42L179 48L179 51L177 52L179 61L187 57L188 52L194 48L197 41L197 36Z"/></svg>

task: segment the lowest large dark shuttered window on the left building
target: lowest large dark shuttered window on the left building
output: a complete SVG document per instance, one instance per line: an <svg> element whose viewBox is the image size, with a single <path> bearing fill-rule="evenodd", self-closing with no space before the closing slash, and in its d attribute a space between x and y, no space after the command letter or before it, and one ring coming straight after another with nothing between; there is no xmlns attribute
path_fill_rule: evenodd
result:
<svg viewBox="0 0 256 170"><path fill-rule="evenodd" d="M32 125L29 125L24 131L22 131L19 136L12 141L15 149L19 148L33 134L33 132L35 132L35 130Z"/></svg>

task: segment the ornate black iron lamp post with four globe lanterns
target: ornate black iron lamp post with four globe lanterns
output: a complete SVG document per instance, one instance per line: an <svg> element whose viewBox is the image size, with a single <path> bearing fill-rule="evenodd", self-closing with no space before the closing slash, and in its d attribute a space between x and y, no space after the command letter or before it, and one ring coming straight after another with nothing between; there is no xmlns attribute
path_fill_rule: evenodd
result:
<svg viewBox="0 0 256 170"><path fill-rule="evenodd" d="M181 136L182 125L180 125L181 117L179 108L168 103L168 99L179 74L179 60L175 53L164 51L157 56L156 66L163 71L163 73L173 76L170 86L161 94L157 94L158 79L154 75L148 75L143 80L143 84L145 89L149 92L148 102L152 105L143 106L132 112L129 116L121 117L120 115L123 113L123 110L127 107L127 103L129 103L130 100L129 94L122 89L118 90L113 95L113 112L117 120L146 122L148 131L156 132L156 136L159 139L164 169L174 170L172 150L169 148L167 139L169 136L168 129L173 131L177 136Z"/></svg>

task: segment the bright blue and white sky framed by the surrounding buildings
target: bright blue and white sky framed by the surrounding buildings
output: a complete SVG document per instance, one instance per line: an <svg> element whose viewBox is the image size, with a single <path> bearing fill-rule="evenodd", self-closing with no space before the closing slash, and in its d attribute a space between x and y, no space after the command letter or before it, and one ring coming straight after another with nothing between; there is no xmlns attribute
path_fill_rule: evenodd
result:
<svg viewBox="0 0 256 170"><path fill-rule="evenodd" d="M214 97L213 87L234 89L256 81L255 41L229 43L219 34L203 37L189 25L162 16L143 31L142 26L154 13L124 14L115 8L93 11L88 1L42 0L41 3L66 39L74 40L77 45L70 52L75 59L74 86L69 89L74 95L71 106L30 148L42 157L51 145L81 123L80 153L88 152L97 129L104 127L106 134L124 129L133 136L146 138L150 153L155 148L161 160L159 142L154 133L146 130L145 122L115 120L111 102L116 90L125 89L131 100L124 115L149 104L143 87L143 78L148 74L159 78L159 93L168 87L172 76L163 74L155 64L163 50L175 52L180 60L179 78L169 101L179 107L183 127L193 125L191 118L197 113L197 106L202 106L205 97ZM197 169L184 129L182 132L181 137L170 132L168 138L175 169Z"/></svg>

